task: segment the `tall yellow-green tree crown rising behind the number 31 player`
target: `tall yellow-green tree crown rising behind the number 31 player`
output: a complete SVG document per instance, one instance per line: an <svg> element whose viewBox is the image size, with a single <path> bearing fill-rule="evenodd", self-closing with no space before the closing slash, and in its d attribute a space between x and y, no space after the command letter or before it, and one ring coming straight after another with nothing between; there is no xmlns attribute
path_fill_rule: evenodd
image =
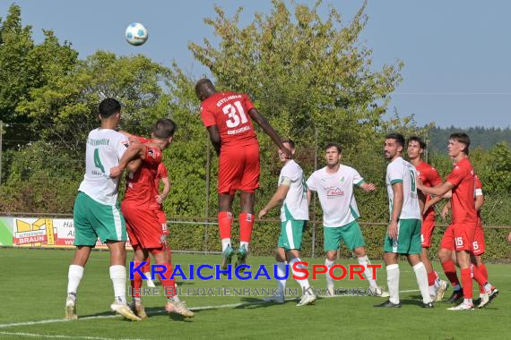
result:
<svg viewBox="0 0 511 340"><path fill-rule="evenodd" d="M359 41L368 22L365 4L347 24L333 8L322 18L320 5L297 4L291 13L275 0L271 13L256 14L244 28L241 8L228 17L215 7L216 17L204 22L218 47L206 38L189 48L221 89L249 93L281 134L312 142L317 129L320 144L363 148L382 127L403 64L374 70L372 51Z"/></svg>

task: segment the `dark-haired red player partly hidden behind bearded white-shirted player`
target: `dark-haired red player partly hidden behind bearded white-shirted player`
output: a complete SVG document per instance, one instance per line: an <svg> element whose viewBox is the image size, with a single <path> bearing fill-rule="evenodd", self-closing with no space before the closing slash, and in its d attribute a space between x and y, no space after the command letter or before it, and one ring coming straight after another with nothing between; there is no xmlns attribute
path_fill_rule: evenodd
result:
<svg viewBox="0 0 511 340"><path fill-rule="evenodd" d="M420 137L412 136L408 140L408 158L412 166L415 166L420 181L426 186L436 186L442 183L442 178L433 166L422 161L421 157L426 149L426 143ZM434 205L442 198L431 199L430 195L424 195L420 192L419 203L422 211L422 226L420 227L420 239L422 243L422 253L420 260L424 263L428 271L429 294L432 301L440 301L444 297L447 289L446 281L438 279L437 272L433 270L433 265L429 260L429 247L433 230L435 229L435 208Z"/></svg>

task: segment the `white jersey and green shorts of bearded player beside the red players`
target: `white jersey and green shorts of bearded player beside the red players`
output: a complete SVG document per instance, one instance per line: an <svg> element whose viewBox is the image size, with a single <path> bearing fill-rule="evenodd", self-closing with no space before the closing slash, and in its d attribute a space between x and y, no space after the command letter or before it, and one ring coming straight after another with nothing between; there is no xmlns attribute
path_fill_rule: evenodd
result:
<svg viewBox="0 0 511 340"><path fill-rule="evenodd" d="M395 183L403 183L403 208L398 219L397 239L393 240L385 236L385 252L394 252L399 254L420 254L420 205L417 197L417 170L403 157L395 158L386 167L386 191L388 195L390 216L394 210L394 190Z"/></svg>

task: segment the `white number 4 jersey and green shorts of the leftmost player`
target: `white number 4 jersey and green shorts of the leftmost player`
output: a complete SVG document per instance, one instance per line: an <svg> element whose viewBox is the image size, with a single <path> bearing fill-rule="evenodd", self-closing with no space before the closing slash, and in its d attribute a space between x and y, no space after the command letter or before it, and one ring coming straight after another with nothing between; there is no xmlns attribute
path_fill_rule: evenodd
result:
<svg viewBox="0 0 511 340"><path fill-rule="evenodd" d="M94 129L87 137L85 175L74 202L74 245L126 241L126 223L117 201L119 178L110 177L129 146L125 135Z"/></svg>

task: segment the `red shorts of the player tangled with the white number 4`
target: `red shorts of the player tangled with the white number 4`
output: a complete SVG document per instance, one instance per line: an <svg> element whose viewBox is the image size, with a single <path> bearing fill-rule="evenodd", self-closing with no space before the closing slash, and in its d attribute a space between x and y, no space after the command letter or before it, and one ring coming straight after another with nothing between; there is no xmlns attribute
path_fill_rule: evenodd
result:
<svg viewBox="0 0 511 340"><path fill-rule="evenodd" d="M157 210L133 208L123 202L121 211L126 220L129 241L134 248L152 249L167 245L167 235L163 233Z"/></svg>

